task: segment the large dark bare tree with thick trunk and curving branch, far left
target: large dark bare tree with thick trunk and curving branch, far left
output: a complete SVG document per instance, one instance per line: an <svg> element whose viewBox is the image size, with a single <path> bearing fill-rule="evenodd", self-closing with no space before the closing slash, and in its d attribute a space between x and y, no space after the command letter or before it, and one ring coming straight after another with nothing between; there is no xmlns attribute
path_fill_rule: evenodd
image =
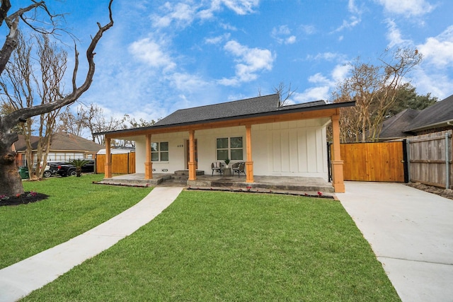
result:
<svg viewBox="0 0 453 302"><path fill-rule="evenodd" d="M45 112L51 112L57 110L66 105L74 103L88 88L91 86L93 81L93 76L95 72L95 63L94 63L94 50L99 40L103 36L106 30L113 26L113 16L112 16L112 3L113 0L110 0L108 10L110 22L104 26L98 23L98 31L91 39L90 45L86 50L86 59L88 61L88 71L86 73L86 78L80 86L76 84L77 71L79 70L79 52L75 48L75 64L74 71L72 73L72 91L67 95L59 95L58 100L51 103L45 103L40 105L33 105L28 108L18 108L17 110L9 113L8 115L1 115L0 117L0 195L15 195L23 194L23 186L21 178L18 175L18 170L16 166L16 152L13 151L12 145L15 141L18 140L18 134L13 131L13 127L16 126L19 122L25 122L28 118L42 115ZM6 37L4 46L0 50L0 74L3 73L6 63L11 57L11 53L15 50L18 44L18 24L20 20L23 20L26 24L30 24L26 21L24 14L28 11L31 11L36 8L41 8L47 12L52 21L52 14L47 10L44 1L33 2L27 8L20 8L15 13L8 15L8 11L11 8L11 3L9 0L2 0L0 7L0 26L5 21L6 25L9 28L9 34ZM34 28L36 29L36 28Z"/></svg>

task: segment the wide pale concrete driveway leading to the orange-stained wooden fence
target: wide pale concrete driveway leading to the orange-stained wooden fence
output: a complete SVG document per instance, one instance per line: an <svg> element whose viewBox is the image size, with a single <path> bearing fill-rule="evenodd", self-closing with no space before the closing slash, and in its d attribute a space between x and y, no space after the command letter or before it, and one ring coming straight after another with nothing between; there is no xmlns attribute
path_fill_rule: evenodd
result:
<svg viewBox="0 0 453 302"><path fill-rule="evenodd" d="M400 183L336 194L402 301L453 301L453 200Z"/></svg>

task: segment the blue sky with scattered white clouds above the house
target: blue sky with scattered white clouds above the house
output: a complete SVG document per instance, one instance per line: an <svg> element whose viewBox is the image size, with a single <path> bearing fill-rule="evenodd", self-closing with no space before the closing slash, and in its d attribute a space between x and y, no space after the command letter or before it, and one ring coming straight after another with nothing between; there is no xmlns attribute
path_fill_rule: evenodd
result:
<svg viewBox="0 0 453 302"><path fill-rule="evenodd" d="M79 50L107 22L108 0L47 5L68 13ZM453 94L452 13L451 0L115 0L80 100L137 120L270 94L280 82L297 88L294 103L331 100L348 62L406 46L424 57L407 80L443 99Z"/></svg>

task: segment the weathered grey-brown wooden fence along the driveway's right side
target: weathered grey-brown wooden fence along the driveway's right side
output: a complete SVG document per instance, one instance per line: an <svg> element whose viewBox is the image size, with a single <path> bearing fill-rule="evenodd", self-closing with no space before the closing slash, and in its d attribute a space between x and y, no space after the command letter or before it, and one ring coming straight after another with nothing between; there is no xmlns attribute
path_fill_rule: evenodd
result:
<svg viewBox="0 0 453 302"><path fill-rule="evenodd" d="M408 139L410 180L453 188L452 142L452 130Z"/></svg>

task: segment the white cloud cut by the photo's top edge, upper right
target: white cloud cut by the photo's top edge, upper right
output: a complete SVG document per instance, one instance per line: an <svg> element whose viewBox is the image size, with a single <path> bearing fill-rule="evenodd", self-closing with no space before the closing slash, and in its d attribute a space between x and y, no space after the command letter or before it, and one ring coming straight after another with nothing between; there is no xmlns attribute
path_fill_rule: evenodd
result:
<svg viewBox="0 0 453 302"><path fill-rule="evenodd" d="M404 16L421 16L435 8L425 0L377 0L377 2L389 13Z"/></svg>

